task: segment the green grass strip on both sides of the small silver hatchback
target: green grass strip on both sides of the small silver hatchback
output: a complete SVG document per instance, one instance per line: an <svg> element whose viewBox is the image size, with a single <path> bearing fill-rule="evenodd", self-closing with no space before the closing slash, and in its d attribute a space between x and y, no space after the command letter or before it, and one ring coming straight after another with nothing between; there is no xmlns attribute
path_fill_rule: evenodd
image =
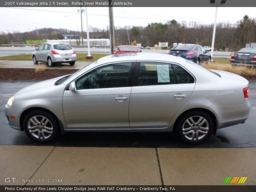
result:
<svg viewBox="0 0 256 192"><path fill-rule="evenodd" d="M101 57L105 57L107 55L109 54L94 53L92 54L92 60L86 60L87 53L76 53L77 61L96 61ZM32 61L32 54L4 56L0 57L0 60Z"/></svg>

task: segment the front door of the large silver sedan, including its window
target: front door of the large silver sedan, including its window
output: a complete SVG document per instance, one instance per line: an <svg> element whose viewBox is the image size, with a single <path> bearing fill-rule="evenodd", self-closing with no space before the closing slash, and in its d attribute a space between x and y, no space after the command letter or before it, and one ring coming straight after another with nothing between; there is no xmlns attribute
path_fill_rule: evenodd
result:
<svg viewBox="0 0 256 192"><path fill-rule="evenodd" d="M132 62L108 64L76 80L76 92L63 94L67 129L129 128L129 75Z"/></svg>

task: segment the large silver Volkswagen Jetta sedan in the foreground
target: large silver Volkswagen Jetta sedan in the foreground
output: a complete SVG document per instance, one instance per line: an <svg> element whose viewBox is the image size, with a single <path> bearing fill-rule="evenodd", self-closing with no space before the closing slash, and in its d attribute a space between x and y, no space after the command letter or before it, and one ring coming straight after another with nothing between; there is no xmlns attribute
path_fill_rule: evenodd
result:
<svg viewBox="0 0 256 192"><path fill-rule="evenodd" d="M199 143L249 116L248 81L157 53L107 56L32 84L5 106L9 125L46 142L64 132L172 132Z"/></svg>

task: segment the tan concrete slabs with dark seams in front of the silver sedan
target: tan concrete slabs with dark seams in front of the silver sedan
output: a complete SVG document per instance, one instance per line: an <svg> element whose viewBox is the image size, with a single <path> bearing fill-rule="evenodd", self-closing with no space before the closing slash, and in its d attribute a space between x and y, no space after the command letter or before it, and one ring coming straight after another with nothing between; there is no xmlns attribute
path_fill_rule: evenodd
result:
<svg viewBox="0 0 256 192"><path fill-rule="evenodd" d="M6 177L62 179L27 185L222 185L226 177L256 184L256 148L82 148L0 145Z"/></svg>

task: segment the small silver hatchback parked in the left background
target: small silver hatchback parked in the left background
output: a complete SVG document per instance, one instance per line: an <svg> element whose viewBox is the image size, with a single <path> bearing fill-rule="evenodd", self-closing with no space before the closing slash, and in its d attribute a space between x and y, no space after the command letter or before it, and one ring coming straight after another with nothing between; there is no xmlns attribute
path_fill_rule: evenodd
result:
<svg viewBox="0 0 256 192"><path fill-rule="evenodd" d="M76 62L76 51L66 43L43 43L32 53L34 64L38 61L47 62L49 67L54 63L69 63L71 66Z"/></svg>

